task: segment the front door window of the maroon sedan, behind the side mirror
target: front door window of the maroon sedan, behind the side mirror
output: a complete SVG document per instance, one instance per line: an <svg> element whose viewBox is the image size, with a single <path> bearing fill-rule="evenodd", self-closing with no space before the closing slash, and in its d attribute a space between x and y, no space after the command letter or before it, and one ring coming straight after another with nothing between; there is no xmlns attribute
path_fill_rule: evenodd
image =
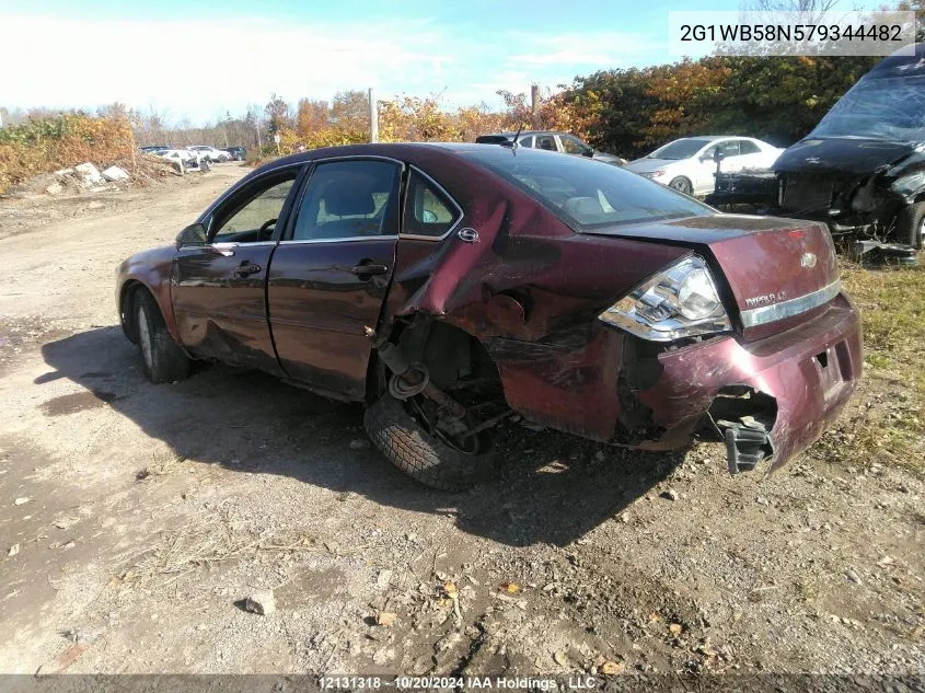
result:
<svg viewBox="0 0 925 693"><path fill-rule="evenodd" d="M256 243L269 241L276 220L292 189L298 169L268 176L255 188L242 190L228 200L215 216L212 243Z"/></svg>

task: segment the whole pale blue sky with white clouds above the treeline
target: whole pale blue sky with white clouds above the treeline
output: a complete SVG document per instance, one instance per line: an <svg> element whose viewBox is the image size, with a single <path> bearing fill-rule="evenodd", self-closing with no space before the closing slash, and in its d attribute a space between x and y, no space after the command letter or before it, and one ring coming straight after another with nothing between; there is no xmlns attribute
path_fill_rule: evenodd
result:
<svg viewBox="0 0 925 693"><path fill-rule="evenodd" d="M368 88L498 106L500 89L675 60L668 12L691 9L739 0L0 0L0 106L122 102L205 124L271 92Z"/></svg>

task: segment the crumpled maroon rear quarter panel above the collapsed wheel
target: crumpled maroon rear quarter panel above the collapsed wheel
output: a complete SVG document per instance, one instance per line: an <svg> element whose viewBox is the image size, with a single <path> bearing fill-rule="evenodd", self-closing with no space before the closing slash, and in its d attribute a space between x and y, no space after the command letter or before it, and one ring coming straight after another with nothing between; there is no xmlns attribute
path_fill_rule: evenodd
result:
<svg viewBox="0 0 925 693"><path fill-rule="evenodd" d="M597 316L690 251L576 234L519 188L466 165L435 177L466 210L458 228L477 230L478 241L400 240L383 324L425 314L465 331L493 357L511 408L611 439L623 336Z"/></svg>

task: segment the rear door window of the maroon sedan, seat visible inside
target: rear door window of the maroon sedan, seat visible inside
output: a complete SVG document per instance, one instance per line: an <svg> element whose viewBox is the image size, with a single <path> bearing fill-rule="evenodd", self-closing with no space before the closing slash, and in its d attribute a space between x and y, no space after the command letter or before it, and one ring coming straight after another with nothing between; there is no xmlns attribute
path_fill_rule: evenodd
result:
<svg viewBox="0 0 925 693"><path fill-rule="evenodd" d="M394 233L401 169L391 161L321 163L299 205L293 241Z"/></svg>

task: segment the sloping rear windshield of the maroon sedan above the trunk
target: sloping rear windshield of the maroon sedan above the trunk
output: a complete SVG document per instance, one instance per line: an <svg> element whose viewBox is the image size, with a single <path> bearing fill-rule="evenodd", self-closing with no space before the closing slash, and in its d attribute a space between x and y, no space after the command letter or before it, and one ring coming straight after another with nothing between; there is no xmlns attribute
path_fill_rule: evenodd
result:
<svg viewBox="0 0 925 693"><path fill-rule="evenodd" d="M513 183L576 231L716 213L697 200L600 161L531 149L464 155Z"/></svg>

